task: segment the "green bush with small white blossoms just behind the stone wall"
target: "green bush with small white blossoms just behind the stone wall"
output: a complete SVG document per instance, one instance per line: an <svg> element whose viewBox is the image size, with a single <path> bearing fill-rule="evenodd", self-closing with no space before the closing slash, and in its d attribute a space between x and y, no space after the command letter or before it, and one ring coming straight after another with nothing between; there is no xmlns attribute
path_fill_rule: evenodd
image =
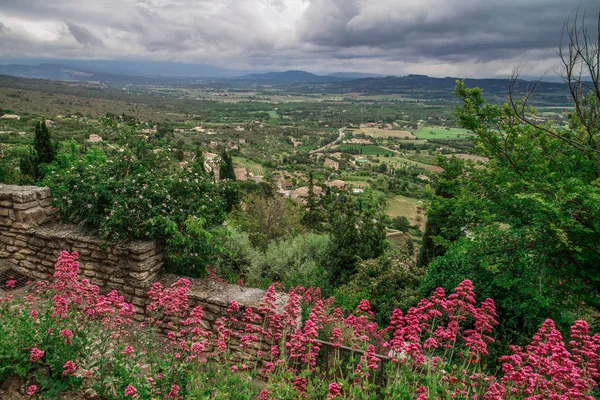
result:
<svg viewBox="0 0 600 400"><path fill-rule="evenodd" d="M57 218L98 233L105 241L158 239L167 266L202 276L218 249L207 229L223 223L235 183L215 184L202 166L181 169L158 154L114 159L98 148L63 169L55 165L45 184Z"/></svg>

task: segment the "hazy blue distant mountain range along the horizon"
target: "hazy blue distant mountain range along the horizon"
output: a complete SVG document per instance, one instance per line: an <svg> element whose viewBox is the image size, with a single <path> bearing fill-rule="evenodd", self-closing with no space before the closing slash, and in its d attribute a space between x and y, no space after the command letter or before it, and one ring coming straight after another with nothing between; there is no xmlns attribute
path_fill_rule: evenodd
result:
<svg viewBox="0 0 600 400"><path fill-rule="evenodd" d="M109 86L125 85L171 85L183 87L243 87L245 85L285 86L289 90L304 93L368 93L368 94L402 94L405 98L415 99L454 99L452 92L459 78L432 78L426 75L382 76L362 73L333 73L316 75L306 71L285 71L250 73L241 76L199 77L199 76L159 76L151 73L161 71L156 64L146 64L146 68L133 69L130 62L92 62L77 61L90 68L104 69L98 71L84 69L75 65L51 63L9 64L0 65L0 75L22 78L47 79L55 81L91 81L101 82ZM116 64L115 64L116 63ZM171 64L168 64L171 65ZM118 67L118 68L117 68ZM178 73L200 74L201 66L179 66ZM206 67L206 66L205 66ZM120 68L120 69L119 69ZM204 73L217 73L216 67L206 67ZM210 68L213 68L212 70ZM114 71L132 72L134 74L116 73ZM221 71L229 75L233 70ZM173 71L171 71L173 72ZM238 71L239 72L239 71ZM149 74L149 75L145 75ZM508 90L508 79L465 79L469 87L478 86L485 91L486 97L494 101L504 101ZM536 91L542 95L544 104L568 104L568 91L564 83L535 82ZM521 81L520 86L531 86L532 82Z"/></svg>

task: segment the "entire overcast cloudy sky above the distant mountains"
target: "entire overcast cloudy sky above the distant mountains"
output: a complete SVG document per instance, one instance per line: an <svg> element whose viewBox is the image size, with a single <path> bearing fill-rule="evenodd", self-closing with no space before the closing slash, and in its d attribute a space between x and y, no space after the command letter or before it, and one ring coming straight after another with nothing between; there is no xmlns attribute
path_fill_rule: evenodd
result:
<svg viewBox="0 0 600 400"><path fill-rule="evenodd" d="M0 0L0 62L161 60L234 69L553 74L566 18L598 0ZM592 34L592 36L594 36Z"/></svg>

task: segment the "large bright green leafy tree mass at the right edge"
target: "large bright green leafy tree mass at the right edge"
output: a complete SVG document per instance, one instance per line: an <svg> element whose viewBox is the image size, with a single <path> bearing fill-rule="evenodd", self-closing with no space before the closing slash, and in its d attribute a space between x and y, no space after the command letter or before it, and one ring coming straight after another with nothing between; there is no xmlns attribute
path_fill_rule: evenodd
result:
<svg viewBox="0 0 600 400"><path fill-rule="evenodd" d="M446 164L429 213L424 290L471 279L497 301L505 342L546 318L564 327L598 309L598 127L575 116L567 128L536 126L490 105L480 89L459 82L456 92L461 124L491 161ZM597 113L597 102L589 106Z"/></svg>

